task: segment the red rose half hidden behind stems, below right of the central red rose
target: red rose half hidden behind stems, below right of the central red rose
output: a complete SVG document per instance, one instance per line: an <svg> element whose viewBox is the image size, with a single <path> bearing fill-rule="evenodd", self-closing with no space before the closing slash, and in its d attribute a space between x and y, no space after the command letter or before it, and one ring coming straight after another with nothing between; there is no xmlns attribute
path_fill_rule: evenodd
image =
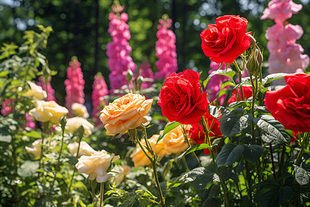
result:
<svg viewBox="0 0 310 207"><path fill-rule="evenodd" d="M214 120L214 123L210 129L209 137L222 137L222 132L220 132L220 123L218 123L218 119L212 117L209 115L209 112L205 112L205 121L207 123L207 126L210 127L212 124L212 121ZM192 128L189 130L189 139L194 139L197 144L203 144L207 143L207 140L205 141L205 132L203 132L203 126L201 124L192 124ZM211 139L211 143L214 139ZM210 154L209 149L205 149L205 155Z"/></svg>

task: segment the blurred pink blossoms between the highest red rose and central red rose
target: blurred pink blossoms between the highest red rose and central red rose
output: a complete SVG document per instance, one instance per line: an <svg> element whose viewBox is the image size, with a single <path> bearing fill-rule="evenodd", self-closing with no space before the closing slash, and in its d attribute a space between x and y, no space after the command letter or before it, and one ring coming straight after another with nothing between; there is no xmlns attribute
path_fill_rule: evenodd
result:
<svg viewBox="0 0 310 207"><path fill-rule="evenodd" d="M211 72L218 70L218 67L220 67L220 63L211 61L210 63L211 70L209 70L209 74L211 74ZM226 66L225 64L223 64L223 66L220 67L220 70L225 70L225 69L226 69ZM208 99L210 101L214 101L216 99L216 95L221 90L220 85L222 85L222 83L227 80L228 78L225 75L214 75L213 77L211 77L211 79L209 80L205 88L205 91L208 92ZM225 86L225 88L229 88L229 86ZM218 99L218 101L220 101L220 105L223 105L225 101L225 97L226 95L223 95Z"/></svg>

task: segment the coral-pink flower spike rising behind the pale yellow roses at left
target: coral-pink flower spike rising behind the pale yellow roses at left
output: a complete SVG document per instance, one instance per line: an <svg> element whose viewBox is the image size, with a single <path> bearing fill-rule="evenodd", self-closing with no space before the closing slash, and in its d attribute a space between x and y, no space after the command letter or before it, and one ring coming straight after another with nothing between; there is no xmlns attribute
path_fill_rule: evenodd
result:
<svg viewBox="0 0 310 207"><path fill-rule="evenodd" d="M73 103L85 102L84 100L84 85L83 72L81 63L77 59L72 58L69 63L70 67L67 70L67 79L65 80L65 107L68 108L70 115L72 115L71 106Z"/></svg>

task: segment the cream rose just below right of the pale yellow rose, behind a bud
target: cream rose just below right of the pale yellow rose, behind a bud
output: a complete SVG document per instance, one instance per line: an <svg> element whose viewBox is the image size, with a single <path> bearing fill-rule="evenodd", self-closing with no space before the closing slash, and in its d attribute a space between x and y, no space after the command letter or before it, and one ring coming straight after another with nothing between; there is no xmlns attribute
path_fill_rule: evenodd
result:
<svg viewBox="0 0 310 207"><path fill-rule="evenodd" d="M86 136L92 135L92 129L94 128L94 125L90 124L89 121L87 121L82 117L69 118L67 124L65 124L65 129L68 130L68 132L73 133L80 126L83 126L84 128L84 135Z"/></svg>

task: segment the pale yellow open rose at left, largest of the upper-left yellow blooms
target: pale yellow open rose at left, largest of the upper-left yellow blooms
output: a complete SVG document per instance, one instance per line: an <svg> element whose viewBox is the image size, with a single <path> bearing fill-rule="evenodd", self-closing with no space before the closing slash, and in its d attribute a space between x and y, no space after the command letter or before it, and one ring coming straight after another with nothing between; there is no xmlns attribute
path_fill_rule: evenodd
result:
<svg viewBox="0 0 310 207"><path fill-rule="evenodd" d="M34 106L29 114L37 121L51 121L54 124L59 124L59 119L68 114L68 109L59 106L55 101L34 101Z"/></svg>

